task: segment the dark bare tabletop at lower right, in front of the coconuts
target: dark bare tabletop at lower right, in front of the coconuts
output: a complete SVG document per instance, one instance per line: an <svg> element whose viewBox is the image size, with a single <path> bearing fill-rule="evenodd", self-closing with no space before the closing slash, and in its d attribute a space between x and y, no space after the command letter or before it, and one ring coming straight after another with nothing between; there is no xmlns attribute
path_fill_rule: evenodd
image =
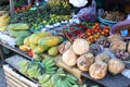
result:
<svg viewBox="0 0 130 87"><path fill-rule="evenodd" d="M123 75L109 75L107 74L105 78L95 80L90 77L89 73L82 73L82 76L92 79L105 87L130 87L130 78L125 77Z"/></svg>

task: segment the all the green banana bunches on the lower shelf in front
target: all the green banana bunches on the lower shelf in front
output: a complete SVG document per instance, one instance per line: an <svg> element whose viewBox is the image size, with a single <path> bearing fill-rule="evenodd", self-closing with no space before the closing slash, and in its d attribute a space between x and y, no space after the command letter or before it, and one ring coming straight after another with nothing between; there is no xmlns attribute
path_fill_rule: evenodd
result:
<svg viewBox="0 0 130 87"><path fill-rule="evenodd" d="M44 55L43 60L24 60L18 65L21 66L20 72L30 78L38 79L41 87L72 87L74 85L76 87L87 87L86 85L79 86L78 79L63 69L57 70L55 62L49 55Z"/></svg>

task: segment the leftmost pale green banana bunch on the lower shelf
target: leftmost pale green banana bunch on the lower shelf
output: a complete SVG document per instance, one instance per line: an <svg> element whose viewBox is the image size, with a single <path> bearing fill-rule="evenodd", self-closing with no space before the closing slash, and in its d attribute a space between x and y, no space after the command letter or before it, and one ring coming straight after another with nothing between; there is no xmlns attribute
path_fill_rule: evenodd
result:
<svg viewBox="0 0 130 87"><path fill-rule="evenodd" d="M20 65L20 72L22 73L22 74L27 74L27 70L28 70L28 67L29 67L29 61L27 61L27 60L23 60L23 61L21 61L21 62L18 62L18 65Z"/></svg>

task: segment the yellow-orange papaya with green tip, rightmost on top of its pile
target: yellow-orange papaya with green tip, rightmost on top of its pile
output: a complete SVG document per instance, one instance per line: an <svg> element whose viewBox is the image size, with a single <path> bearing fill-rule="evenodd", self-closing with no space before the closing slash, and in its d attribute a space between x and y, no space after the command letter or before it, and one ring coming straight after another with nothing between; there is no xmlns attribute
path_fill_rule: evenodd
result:
<svg viewBox="0 0 130 87"><path fill-rule="evenodd" d="M63 37L61 36L50 36L50 37L42 37L39 39L38 45L53 47L63 41Z"/></svg>

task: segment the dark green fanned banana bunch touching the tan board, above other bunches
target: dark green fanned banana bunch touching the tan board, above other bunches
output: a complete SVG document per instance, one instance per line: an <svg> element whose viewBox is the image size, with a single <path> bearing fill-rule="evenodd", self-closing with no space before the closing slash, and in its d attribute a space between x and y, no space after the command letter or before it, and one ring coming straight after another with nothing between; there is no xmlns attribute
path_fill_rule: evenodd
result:
<svg viewBox="0 0 130 87"><path fill-rule="evenodd" d="M54 74L55 71L57 70L55 61L51 59L49 55L44 55L42 64L44 66L46 74Z"/></svg>

